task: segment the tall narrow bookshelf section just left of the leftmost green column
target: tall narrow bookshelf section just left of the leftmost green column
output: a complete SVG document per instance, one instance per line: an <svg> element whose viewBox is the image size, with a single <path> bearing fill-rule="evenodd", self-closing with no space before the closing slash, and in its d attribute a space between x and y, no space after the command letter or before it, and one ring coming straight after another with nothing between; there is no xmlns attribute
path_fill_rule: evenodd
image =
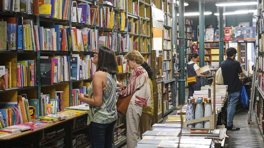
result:
<svg viewBox="0 0 264 148"><path fill-rule="evenodd" d="M152 81L154 94L154 116L152 120L153 123L161 123L164 116L171 112L176 104L172 37L172 8L174 6L171 1L166 0L161 1L161 3L159 1L154 1L153 3L158 9L163 11L164 16L163 30L152 28L153 38L162 39L162 50L151 51L151 66L153 70L156 70Z"/></svg>

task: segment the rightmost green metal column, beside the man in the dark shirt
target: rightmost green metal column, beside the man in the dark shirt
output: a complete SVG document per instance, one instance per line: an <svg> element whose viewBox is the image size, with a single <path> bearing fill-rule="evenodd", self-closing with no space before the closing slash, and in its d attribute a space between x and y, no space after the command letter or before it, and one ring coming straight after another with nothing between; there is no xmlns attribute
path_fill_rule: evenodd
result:
<svg viewBox="0 0 264 148"><path fill-rule="evenodd" d="M224 29L223 29L223 7L219 8L219 67L224 59Z"/></svg>

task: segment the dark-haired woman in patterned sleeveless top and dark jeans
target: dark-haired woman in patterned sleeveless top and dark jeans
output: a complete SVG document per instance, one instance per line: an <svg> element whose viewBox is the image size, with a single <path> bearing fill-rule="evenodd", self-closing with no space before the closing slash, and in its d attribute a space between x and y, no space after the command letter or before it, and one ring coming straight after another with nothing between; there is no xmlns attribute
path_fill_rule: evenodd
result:
<svg viewBox="0 0 264 148"><path fill-rule="evenodd" d="M97 69L87 88L88 95L79 94L78 99L90 105L87 125L92 148L112 148L117 120L116 54L112 49L102 46L95 53L93 63Z"/></svg>

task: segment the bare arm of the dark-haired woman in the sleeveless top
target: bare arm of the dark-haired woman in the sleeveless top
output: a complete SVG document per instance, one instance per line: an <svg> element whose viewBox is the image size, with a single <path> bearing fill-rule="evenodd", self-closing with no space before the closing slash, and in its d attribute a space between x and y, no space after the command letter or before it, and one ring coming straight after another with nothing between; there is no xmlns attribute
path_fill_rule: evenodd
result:
<svg viewBox="0 0 264 148"><path fill-rule="evenodd" d="M79 94L78 99L91 106L100 107L103 102L103 87L106 84L106 73L103 71L97 71L93 75L93 94L94 98L88 98L87 94Z"/></svg>

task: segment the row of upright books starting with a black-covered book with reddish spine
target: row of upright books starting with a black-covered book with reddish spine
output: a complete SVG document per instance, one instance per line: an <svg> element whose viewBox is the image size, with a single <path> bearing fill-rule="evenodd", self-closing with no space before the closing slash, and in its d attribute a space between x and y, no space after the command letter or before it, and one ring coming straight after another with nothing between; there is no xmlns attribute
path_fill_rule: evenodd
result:
<svg viewBox="0 0 264 148"><path fill-rule="evenodd" d="M70 80L69 56L41 56L40 65L42 85Z"/></svg>

